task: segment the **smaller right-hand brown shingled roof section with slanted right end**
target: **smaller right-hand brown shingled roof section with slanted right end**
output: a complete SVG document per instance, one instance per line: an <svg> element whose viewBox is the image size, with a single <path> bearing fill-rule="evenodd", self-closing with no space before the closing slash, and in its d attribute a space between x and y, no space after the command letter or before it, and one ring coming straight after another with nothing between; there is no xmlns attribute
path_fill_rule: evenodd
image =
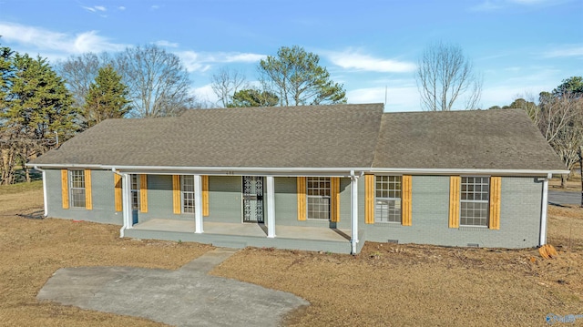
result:
<svg viewBox="0 0 583 327"><path fill-rule="evenodd" d="M385 113L373 167L565 169L521 109Z"/></svg>

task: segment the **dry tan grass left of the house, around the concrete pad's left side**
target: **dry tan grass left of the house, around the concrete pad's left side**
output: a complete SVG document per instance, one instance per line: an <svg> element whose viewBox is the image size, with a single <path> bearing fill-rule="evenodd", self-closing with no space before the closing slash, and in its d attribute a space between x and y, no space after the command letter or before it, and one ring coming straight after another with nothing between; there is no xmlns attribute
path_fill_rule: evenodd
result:
<svg viewBox="0 0 583 327"><path fill-rule="evenodd" d="M162 326L144 319L36 301L59 268L132 266L178 269L211 249L197 243L119 239L119 226L26 219L42 214L42 189L0 195L0 325Z"/></svg>

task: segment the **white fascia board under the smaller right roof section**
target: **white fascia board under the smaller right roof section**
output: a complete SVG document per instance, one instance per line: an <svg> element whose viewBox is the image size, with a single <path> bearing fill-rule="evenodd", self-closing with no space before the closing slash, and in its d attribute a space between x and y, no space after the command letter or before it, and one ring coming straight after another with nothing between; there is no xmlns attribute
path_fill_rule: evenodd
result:
<svg viewBox="0 0 583 327"><path fill-rule="evenodd" d="M369 169L379 174L414 174L414 175L496 175L496 176L547 176L548 174L568 174L568 170L540 169Z"/></svg>

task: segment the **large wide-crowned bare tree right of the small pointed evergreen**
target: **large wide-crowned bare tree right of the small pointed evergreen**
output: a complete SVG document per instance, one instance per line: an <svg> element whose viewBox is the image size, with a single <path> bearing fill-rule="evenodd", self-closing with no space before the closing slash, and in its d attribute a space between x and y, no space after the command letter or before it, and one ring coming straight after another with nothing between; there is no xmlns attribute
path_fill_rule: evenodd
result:
<svg viewBox="0 0 583 327"><path fill-rule="evenodd" d="M155 45L128 47L116 56L115 67L128 86L134 117L176 116L193 107L189 73L179 56Z"/></svg>

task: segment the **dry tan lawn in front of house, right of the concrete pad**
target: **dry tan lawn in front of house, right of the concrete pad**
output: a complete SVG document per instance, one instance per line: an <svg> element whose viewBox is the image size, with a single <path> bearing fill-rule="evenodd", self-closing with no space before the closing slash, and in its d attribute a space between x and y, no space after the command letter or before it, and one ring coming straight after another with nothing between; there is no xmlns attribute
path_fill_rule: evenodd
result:
<svg viewBox="0 0 583 327"><path fill-rule="evenodd" d="M583 209L549 214L553 260L536 249L367 242L358 256L250 248L213 273L310 301L291 326L542 326L548 313L583 314Z"/></svg>

